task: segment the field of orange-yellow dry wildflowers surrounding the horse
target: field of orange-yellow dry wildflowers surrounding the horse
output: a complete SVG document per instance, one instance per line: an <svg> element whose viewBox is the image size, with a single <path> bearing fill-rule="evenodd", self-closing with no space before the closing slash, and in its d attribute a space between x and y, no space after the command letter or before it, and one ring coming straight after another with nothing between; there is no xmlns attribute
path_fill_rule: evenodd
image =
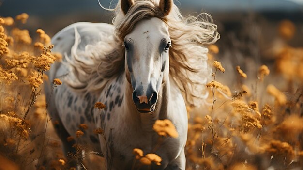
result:
<svg viewBox="0 0 303 170"><path fill-rule="evenodd" d="M43 80L48 78L44 72L62 56L51 52L53 45L43 30L37 29L32 35L36 38L31 38L29 31L20 29L28 17L0 18L0 170L73 170L68 166L72 159L83 169L102 169L106 163L87 146L76 144L77 153L62 154L43 92ZM287 43L296 26L286 20L276 29ZM187 107L186 169L302 169L303 48L279 47L271 52L274 62L256 62L250 72L242 66L225 69L219 47L209 46L209 51L213 79L206 85L207 104ZM237 81L229 82L228 77ZM59 79L53 80L53 88L59 85ZM95 104L96 109L105 107ZM86 124L79 124L76 137L86 129ZM169 120L156 121L153 130L159 145L163 138L178 138ZM102 129L94 132L103 134ZM133 154L133 169L161 164L161 157L153 153L134 148Z"/></svg>

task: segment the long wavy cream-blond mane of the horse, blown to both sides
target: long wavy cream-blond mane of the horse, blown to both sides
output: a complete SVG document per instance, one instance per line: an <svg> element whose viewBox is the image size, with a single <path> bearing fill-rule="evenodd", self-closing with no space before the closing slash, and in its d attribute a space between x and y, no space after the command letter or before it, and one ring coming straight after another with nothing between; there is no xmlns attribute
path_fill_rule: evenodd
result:
<svg viewBox="0 0 303 170"><path fill-rule="evenodd" d="M91 62L83 64L81 59L73 57L72 52L73 60L69 62L77 81L67 80L67 83L75 89L86 92L102 89L107 82L106 79L109 80L124 71L125 51L122 42L125 35L141 19L158 17L168 25L172 42L169 49L169 75L185 94L189 104L199 104L201 100L198 99L205 99L207 96L205 84L211 75L211 68L207 63L208 49L205 46L219 39L217 26L213 24L211 16L202 13L183 17L176 5L173 5L169 15L163 16L158 7L159 0L134 1L134 6L126 15L120 8L120 1L116 8L112 9L115 11L113 19L115 33L112 37L96 45L89 45L85 51L74 53L91 55ZM76 40L75 38L75 44Z"/></svg>

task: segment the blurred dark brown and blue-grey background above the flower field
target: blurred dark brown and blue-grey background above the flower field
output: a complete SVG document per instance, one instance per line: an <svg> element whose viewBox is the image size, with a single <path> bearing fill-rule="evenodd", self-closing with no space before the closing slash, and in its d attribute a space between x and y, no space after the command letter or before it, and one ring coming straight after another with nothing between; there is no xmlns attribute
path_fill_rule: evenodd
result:
<svg viewBox="0 0 303 170"><path fill-rule="evenodd" d="M117 1L100 0L103 6L111 8ZM303 44L303 0L174 0L174 3L183 15L200 12L212 15L222 35L217 43L218 56L232 56L234 62L238 62L235 64L242 63L237 61L241 60L239 54L241 58L271 62L273 56L269 56L268 49L276 43L277 28L282 20L290 20L296 26L288 45ZM31 36L37 28L52 36L72 23L111 23L112 19L112 13L101 9L98 0L0 0L0 16L15 17L21 13L30 15L23 27Z"/></svg>

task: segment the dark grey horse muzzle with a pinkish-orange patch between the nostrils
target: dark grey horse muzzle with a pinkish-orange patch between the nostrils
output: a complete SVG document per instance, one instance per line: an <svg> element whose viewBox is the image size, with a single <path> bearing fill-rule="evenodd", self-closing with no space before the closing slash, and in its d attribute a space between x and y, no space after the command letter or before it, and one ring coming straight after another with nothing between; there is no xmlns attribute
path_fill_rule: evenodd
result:
<svg viewBox="0 0 303 170"><path fill-rule="evenodd" d="M154 111L158 99L158 93L152 91L147 95L138 95L137 91L133 92L133 101L140 113L150 113Z"/></svg>

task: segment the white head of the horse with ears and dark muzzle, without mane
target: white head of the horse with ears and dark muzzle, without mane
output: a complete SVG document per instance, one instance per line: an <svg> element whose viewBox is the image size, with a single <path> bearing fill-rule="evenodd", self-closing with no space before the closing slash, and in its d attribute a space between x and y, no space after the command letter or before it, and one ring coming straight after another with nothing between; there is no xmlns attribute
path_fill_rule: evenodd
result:
<svg viewBox="0 0 303 170"><path fill-rule="evenodd" d="M133 0L121 0L124 14L133 5ZM160 0L156 8L162 16L166 16L172 8L172 0ZM125 72L134 90L133 101L139 112L152 112L163 79L168 77L168 50L171 46L168 26L158 17L141 19L126 34L124 46Z"/></svg>

